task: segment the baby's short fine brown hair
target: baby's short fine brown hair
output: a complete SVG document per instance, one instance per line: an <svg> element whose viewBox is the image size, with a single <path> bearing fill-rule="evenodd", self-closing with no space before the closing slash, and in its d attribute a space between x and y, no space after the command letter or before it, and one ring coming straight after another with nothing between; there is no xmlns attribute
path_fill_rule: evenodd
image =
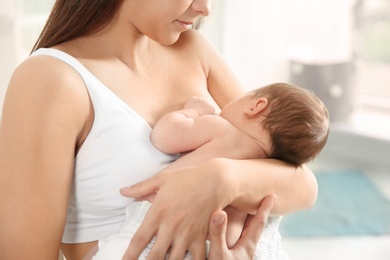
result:
<svg viewBox="0 0 390 260"><path fill-rule="evenodd" d="M274 83L251 92L268 99L269 109L261 122L269 131L272 153L295 166L314 159L329 135L329 112L311 91L287 83Z"/></svg>

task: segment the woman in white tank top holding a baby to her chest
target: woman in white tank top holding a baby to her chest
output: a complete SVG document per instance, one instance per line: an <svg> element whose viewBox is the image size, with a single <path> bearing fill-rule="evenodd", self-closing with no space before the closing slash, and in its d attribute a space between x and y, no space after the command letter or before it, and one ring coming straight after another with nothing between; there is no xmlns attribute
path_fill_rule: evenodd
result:
<svg viewBox="0 0 390 260"><path fill-rule="evenodd" d="M190 30L208 15L209 5L209 0L56 1L4 102L2 259L49 259L59 248L67 260L81 259L123 222L132 199L120 196L119 188L155 175L175 159L150 144L158 118L190 96L223 107L243 94L221 57ZM173 259L187 249L202 259L213 212L232 205L253 213L274 193L272 214L281 215L310 207L317 186L305 167L214 159L122 190L129 197L153 192L155 202L129 247L129 259L155 235L151 259L162 259L170 247Z"/></svg>

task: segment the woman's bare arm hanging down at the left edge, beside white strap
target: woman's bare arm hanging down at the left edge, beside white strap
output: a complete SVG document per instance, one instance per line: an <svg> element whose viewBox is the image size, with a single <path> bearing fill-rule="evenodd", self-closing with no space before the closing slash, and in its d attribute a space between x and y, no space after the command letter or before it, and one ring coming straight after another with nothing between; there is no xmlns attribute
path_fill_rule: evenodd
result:
<svg viewBox="0 0 390 260"><path fill-rule="evenodd" d="M17 68L0 125L0 259L56 259L89 100L50 57Z"/></svg>

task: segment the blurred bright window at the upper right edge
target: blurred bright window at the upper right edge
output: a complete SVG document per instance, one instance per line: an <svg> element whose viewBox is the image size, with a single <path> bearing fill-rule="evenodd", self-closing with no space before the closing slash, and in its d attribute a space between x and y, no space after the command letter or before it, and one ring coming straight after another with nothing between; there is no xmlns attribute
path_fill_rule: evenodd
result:
<svg viewBox="0 0 390 260"><path fill-rule="evenodd" d="M359 102L390 112L390 2L358 1L356 16Z"/></svg>

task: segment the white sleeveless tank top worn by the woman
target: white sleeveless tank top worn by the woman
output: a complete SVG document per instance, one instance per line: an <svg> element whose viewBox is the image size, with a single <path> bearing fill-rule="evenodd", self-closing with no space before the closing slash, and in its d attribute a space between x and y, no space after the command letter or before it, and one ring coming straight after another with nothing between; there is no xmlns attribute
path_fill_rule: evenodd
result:
<svg viewBox="0 0 390 260"><path fill-rule="evenodd" d="M150 142L149 124L78 60L56 49L39 49L35 55L50 55L73 67L93 104L94 122L76 156L62 242L95 241L119 231L125 221L132 199L119 189L158 173L176 156L158 151Z"/></svg>

